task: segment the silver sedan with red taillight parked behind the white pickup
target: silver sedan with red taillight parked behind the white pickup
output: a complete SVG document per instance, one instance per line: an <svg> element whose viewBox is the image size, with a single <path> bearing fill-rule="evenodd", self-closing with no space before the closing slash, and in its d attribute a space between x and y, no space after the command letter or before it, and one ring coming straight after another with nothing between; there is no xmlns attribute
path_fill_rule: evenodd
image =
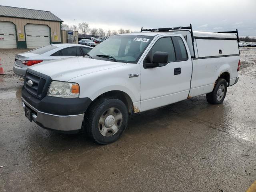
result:
<svg viewBox="0 0 256 192"><path fill-rule="evenodd" d="M61 58L82 57L91 49L89 46L68 43L43 46L28 52L16 54L13 71L17 76L24 78L29 66Z"/></svg>

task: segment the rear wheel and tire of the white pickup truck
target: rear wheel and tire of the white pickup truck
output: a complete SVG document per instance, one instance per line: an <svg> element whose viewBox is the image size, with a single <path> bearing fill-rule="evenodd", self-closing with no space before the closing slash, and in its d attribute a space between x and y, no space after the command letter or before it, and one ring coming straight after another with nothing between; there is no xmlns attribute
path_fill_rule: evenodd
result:
<svg viewBox="0 0 256 192"><path fill-rule="evenodd" d="M223 78L219 78L212 90L212 92L206 94L206 100L210 104L223 103L227 93L227 82Z"/></svg>

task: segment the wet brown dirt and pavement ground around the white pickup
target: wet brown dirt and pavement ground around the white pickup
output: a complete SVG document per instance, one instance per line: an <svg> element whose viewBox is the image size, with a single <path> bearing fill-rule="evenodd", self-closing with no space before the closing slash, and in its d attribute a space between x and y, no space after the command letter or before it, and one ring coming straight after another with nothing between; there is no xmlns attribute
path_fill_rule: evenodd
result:
<svg viewBox="0 0 256 192"><path fill-rule="evenodd" d="M223 104L206 96L130 118L106 146L29 122L16 52L0 50L0 192L243 192L256 180L256 48L241 48L240 79Z"/></svg>

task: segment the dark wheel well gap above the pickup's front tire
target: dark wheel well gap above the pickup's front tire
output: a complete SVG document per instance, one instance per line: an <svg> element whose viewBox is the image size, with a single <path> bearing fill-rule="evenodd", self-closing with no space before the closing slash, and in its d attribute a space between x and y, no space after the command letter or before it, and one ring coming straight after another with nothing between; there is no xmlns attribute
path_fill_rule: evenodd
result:
<svg viewBox="0 0 256 192"><path fill-rule="evenodd" d="M128 108L128 112L129 114L132 114L134 112L133 110L133 103L132 103L132 99L130 98L130 96L128 94L126 94L125 92L122 91L109 91L106 93L101 94L100 96L98 96L96 99L94 99L92 101L92 103L94 101L96 101L98 98L100 97L112 97L112 98L117 98L120 99L122 102L124 102L124 104L126 105L126 107Z"/></svg>

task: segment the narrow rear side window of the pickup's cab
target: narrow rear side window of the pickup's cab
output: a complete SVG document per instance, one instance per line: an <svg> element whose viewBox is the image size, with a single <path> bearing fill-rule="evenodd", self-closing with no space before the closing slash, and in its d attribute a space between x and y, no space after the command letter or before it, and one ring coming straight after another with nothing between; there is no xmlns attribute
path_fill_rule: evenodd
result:
<svg viewBox="0 0 256 192"><path fill-rule="evenodd" d="M188 60L188 54L182 38L172 37L173 44L176 51L176 58L178 61Z"/></svg>

